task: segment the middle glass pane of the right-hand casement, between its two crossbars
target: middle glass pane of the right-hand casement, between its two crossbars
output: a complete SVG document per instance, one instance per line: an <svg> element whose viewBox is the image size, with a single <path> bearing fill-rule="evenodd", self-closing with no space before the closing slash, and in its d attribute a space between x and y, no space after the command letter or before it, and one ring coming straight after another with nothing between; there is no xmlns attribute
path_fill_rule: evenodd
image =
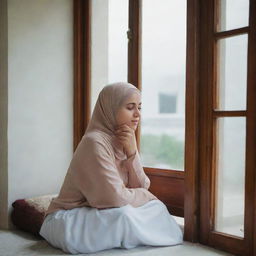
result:
<svg viewBox="0 0 256 256"><path fill-rule="evenodd" d="M245 110L247 35L218 41L218 109Z"/></svg>

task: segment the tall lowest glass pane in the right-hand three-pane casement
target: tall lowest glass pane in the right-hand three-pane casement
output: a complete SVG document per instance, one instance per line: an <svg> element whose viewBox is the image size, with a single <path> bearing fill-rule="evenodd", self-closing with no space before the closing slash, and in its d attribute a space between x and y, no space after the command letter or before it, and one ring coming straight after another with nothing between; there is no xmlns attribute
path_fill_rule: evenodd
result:
<svg viewBox="0 0 256 256"><path fill-rule="evenodd" d="M239 237L244 235L245 137L245 117L217 120L215 229Z"/></svg>

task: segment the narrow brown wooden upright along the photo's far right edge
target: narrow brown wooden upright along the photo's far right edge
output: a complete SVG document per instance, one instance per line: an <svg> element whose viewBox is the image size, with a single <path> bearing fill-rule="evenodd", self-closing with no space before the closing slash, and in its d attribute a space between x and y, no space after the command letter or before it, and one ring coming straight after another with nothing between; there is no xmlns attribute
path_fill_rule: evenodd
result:
<svg viewBox="0 0 256 256"><path fill-rule="evenodd" d="M250 1L248 34L247 150L245 238L248 255L256 256L256 1Z"/></svg>

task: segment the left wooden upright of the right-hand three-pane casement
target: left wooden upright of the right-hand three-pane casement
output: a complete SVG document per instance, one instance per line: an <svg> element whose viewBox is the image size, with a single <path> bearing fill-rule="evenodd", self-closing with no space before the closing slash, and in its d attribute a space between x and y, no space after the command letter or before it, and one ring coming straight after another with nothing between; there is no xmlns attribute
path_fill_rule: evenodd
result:
<svg viewBox="0 0 256 256"><path fill-rule="evenodd" d="M208 244L211 229L211 155L212 155L212 80L213 80L213 1L200 1L200 234L199 241Z"/></svg>

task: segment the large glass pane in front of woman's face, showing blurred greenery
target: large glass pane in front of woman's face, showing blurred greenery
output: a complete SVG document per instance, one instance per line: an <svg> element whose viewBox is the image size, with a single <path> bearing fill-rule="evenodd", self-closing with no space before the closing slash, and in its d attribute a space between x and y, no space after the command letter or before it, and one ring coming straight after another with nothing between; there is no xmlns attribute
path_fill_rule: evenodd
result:
<svg viewBox="0 0 256 256"><path fill-rule="evenodd" d="M184 170L186 0L145 0L142 9L141 158Z"/></svg>

